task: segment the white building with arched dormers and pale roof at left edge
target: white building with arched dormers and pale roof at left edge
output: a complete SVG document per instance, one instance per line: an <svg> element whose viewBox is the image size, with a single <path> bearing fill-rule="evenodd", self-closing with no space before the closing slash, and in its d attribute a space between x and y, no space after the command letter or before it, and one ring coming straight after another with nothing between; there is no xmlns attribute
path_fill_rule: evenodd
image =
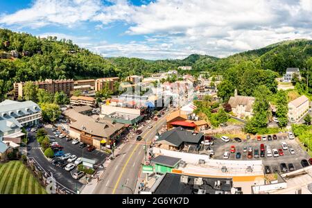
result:
<svg viewBox="0 0 312 208"><path fill-rule="evenodd" d="M10 101L6 100L0 103L0 118L14 118L23 126L37 125L42 118L42 112L33 101Z"/></svg>

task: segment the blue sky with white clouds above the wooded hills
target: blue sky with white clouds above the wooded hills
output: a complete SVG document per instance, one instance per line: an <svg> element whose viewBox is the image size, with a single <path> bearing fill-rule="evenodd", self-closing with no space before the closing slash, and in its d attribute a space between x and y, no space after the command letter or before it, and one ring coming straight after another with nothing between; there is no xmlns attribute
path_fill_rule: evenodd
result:
<svg viewBox="0 0 312 208"><path fill-rule="evenodd" d="M312 0L0 0L0 28L104 57L227 57L312 37Z"/></svg>

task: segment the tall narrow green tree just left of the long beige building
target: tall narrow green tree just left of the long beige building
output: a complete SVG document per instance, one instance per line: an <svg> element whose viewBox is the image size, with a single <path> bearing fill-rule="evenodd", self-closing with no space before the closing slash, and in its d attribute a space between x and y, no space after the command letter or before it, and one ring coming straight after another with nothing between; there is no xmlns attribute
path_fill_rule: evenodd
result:
<svg viewBox="0 0 312 208"><path fill-rule="evenodd" d="M277 119L279 120L279 127L283 128L288 123L288 103L287 94L284 90L279 90L276 94L277 96Z"/></svg>

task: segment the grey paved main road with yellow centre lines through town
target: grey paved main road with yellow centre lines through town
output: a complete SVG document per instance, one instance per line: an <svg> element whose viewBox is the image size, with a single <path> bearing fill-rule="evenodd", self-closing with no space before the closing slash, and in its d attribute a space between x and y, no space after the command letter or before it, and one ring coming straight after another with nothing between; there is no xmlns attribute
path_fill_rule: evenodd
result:
<svg viewBox="0 0 312 208"><path fill-rule="evenodd" d="M136 137L128 141L123 149L120 150L119 156L114 159L110 166L107 167L101 181L98 183L94 193L120 193L129 194L135 191L137 177L141 171L141 163L145 157L144 139L146 144L150 144L151 139L155 138L157 127L161 128L166 123L166 115L162 116L158 121L152 121L153 128L149 129L145 126L142 130L141 141L136 141ZM156 125L157 122L157 125ZM128 188L123 188L125 184ZM131 191L132 189L132 191Z"/></svg>

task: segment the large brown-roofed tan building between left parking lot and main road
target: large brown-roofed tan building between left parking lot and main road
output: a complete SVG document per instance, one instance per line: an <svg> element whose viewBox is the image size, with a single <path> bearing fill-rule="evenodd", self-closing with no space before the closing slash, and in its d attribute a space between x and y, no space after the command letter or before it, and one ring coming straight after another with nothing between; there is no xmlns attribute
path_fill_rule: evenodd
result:
<svg viewBox="0 0 312 208"><path fill-rule="evenodd" d="M125 125L122 123L103 119L96 120L73 109L65 110L62 114L71 121L71 124L69 124L69 135L85 144L93 145L97 149L100 149L102 146L112 148L116 139L125 130Z"/></svg>

